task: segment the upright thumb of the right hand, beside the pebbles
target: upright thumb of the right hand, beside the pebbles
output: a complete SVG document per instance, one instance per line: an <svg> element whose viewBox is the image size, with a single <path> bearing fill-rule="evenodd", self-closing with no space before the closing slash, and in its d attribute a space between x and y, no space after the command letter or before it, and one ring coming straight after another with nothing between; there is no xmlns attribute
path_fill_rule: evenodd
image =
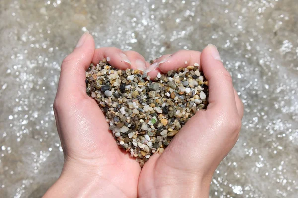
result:
<svg viewBox="0 0 298 198"><path fill-rule="evenodd" d="M210 44L202 51L201 67L208 80L209 105L207 109L214 106L218 106L220 109L224 107L225 110L236 109L232 78L224 68L215 46ZM219 108L216 109L219 110Z"/></svg>

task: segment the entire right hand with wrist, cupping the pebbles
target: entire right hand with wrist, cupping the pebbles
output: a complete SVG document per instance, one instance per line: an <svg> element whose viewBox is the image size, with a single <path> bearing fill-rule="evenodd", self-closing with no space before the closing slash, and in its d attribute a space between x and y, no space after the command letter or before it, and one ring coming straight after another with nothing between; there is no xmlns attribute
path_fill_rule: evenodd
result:
<svg viewBox="0 0 298 198"><path fill-rule="evenodd" d="M139 197L208 198L215 169L238 140L243 103L213 45L202 53L179 51L156 62L159 68L150 76L200 63L208 80L209 105L182 127L161 155L153 155L145 163L139 178Z"/></svg>

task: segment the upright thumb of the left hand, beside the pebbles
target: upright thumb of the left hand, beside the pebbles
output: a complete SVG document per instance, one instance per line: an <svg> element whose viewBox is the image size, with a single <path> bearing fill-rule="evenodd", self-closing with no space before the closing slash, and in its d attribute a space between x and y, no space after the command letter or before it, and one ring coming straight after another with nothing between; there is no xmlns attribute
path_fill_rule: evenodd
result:
<svg viewBox="0 0 298 198"><path fill-rule="evenodd" d="M93 37L84 33L74 51L62 62L57 95L86 95L85 71L90 66L94 50Z"/></svg>

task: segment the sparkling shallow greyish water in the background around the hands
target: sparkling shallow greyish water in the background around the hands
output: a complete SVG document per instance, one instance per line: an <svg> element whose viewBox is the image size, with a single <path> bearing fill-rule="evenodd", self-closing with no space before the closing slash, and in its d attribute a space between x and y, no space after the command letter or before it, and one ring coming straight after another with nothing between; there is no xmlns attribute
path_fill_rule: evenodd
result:
<svg viewBox="0 0 298 198"><path fill-rule="evenodd" d="M52 103L60 63L88 30L96 47L147 60L217 45L245 116L210 197L297 198L297 10L296 0L1 0L0 197L41 197L59 176Z"/></svg>

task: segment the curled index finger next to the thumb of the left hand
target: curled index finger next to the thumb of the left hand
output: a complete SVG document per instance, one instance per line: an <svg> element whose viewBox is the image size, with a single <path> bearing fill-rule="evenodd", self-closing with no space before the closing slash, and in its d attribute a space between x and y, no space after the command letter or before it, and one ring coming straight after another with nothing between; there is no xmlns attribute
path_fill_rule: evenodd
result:
<svg viewBox="0 0 298 198"><path fill-rule="evenodd" d="M93 64L98 64L100 60L106 59L115 68L125 70L131 68L131 62L125 53L115 47L103 47L95 49L92 59Z"/></svg>

